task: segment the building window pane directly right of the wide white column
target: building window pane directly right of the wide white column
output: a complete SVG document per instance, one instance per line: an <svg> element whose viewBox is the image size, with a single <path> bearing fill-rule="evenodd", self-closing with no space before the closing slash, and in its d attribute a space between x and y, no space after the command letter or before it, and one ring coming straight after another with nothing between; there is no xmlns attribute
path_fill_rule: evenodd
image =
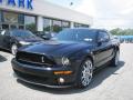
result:
<svg viewBox="0 0 133 100"><path fill-rule="evenodd" d="M44 32L51 31L51 22L52 22L51 19L47 19L47 18L43 19L43 31Z"/></svg>

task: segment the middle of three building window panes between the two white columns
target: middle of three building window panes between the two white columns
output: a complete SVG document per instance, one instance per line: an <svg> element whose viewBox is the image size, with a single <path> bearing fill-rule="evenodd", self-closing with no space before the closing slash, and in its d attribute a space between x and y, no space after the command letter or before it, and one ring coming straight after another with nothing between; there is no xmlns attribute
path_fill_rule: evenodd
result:
<svg viewBox="0 0 133 100"><path fill-rule="evenodd" d="M62 30L62 22L60 20L53 20L52 21L52 31L58 33Z"/></svg>

